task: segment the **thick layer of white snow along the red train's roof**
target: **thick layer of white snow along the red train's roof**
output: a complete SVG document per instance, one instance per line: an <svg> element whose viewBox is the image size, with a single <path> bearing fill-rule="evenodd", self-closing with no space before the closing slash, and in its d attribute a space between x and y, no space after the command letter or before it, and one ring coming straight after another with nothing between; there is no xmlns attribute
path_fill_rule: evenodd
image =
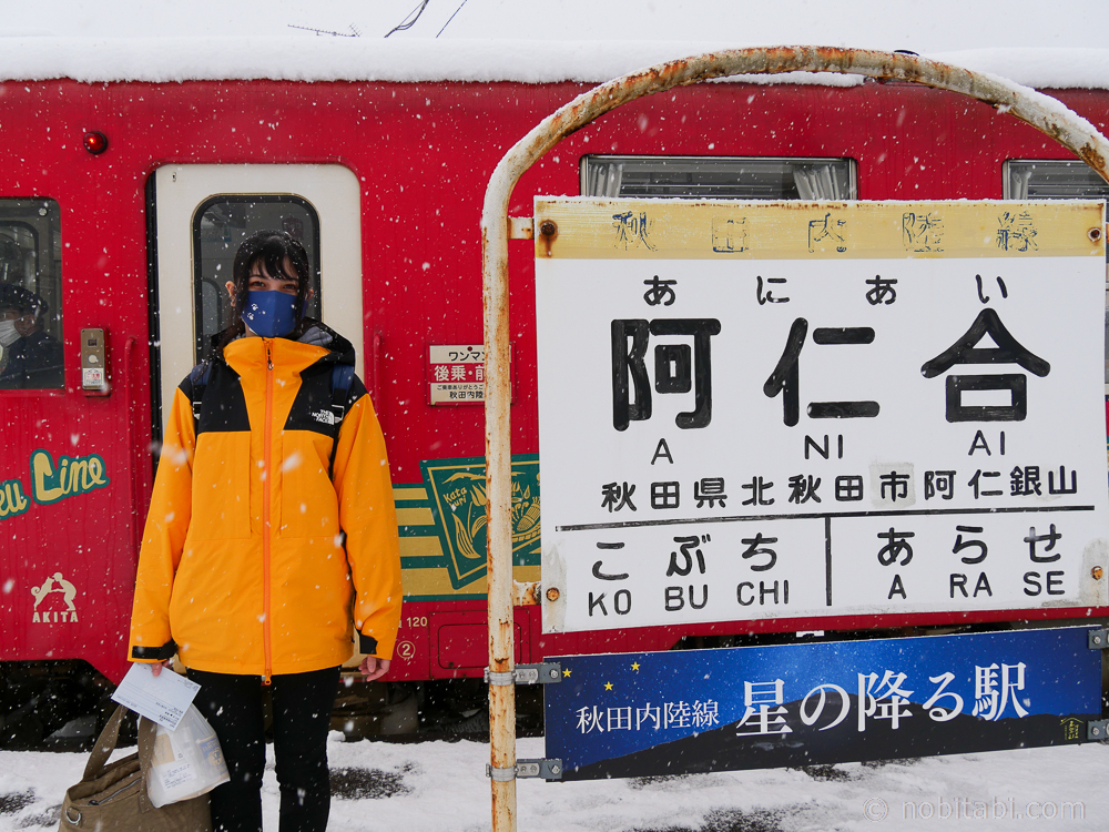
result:
<svg viewBox="0 0 1109 832"><path fill-rule="evenodd" d="M0 38L0 81L518 81L600 83L741 44L691 41L384 40L363 38ZM743 47L751 45L749 43ZM1017 48L927 58L1038 89L1109 89L1109 49ZM833 73L747 75L755 83L853 85Z"/></svg>

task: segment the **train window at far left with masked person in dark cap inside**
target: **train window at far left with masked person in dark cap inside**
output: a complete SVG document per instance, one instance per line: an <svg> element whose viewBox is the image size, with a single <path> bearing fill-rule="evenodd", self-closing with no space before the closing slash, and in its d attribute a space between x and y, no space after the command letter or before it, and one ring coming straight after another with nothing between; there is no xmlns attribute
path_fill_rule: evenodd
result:
<svg viewBox="0 0 1109 832"><path fill-rule="evenodd" d="M0 389L59 389L62 233L58 203L0 200Z"/></svg>

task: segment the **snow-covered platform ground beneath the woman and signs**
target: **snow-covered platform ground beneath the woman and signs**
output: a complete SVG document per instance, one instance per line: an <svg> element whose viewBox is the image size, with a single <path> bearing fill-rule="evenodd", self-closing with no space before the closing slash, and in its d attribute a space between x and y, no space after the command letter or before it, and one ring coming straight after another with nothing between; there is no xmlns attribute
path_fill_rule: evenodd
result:
<svg viewBox="0 0 1109 832"><path fill-rule="evenodd" d="M335 832L489 829L488 747L461 741L329 745ZM271 748L272 753L272 748ZM518 755L543 754L541 739ZM57 828L65 787L85 754L0 752L0 832ZM1097 787L1109 745L998 751L801 771L776 769L649 780L519 782L519 829L550 832L777 832L779 830L1103 830ZM266 828L277 828L273 761ZM1014 812L1018 814L1014 818Z"/></svg>

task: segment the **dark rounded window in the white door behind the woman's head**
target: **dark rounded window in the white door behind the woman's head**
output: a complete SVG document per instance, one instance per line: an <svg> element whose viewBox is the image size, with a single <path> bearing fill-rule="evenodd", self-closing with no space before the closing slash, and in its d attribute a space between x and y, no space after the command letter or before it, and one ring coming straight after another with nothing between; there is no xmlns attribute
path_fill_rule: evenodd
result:
<svg viewBox="0 0 1109 832"><path fill-rule="evenodd" d="M265 229L287 231L304 244L315 290L307 314L319 317L319 217L312 204L293 195L213 196L201 203L193 217L197 362L212 355L213 336L231 323L231 300L224 286L232 280L238 246L251 234Z"/></svg>

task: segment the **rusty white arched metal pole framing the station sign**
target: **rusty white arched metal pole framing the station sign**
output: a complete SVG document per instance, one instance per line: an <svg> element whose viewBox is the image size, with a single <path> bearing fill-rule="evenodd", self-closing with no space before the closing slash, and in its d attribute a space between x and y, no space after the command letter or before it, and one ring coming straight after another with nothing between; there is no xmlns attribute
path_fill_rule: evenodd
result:
<svg viewBox="0 0 1109 832"><path fill-rule="evenodd" d="M508 378L508 201L512 189L520 176L562 139L629 101L713 78L798 71L910 81L968 95L1051 136L1109 182L1109 142L1086 119L1056 99L1001 78L916 55L824 47L728 50L633 72L582 93L543 119L505 154L489 179L481 213L494 832L516 832L511 395Z"/></svg>

